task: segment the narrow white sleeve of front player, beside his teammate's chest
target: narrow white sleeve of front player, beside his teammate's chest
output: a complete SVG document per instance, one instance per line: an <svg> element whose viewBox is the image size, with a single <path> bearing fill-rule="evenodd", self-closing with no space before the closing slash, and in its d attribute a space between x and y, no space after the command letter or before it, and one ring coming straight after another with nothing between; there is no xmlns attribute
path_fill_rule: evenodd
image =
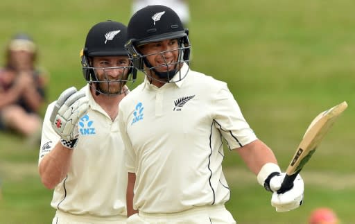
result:
<svg viewBox="0 0 355 224"><path fill-rule="evenodd" d="M121 132L121 138L125 146L125 166L129 173L136 173L136 153L127 133L127 125L127 117L124 116L124 112L121 110L121 107L119 107L119 130Z"/></svg>

